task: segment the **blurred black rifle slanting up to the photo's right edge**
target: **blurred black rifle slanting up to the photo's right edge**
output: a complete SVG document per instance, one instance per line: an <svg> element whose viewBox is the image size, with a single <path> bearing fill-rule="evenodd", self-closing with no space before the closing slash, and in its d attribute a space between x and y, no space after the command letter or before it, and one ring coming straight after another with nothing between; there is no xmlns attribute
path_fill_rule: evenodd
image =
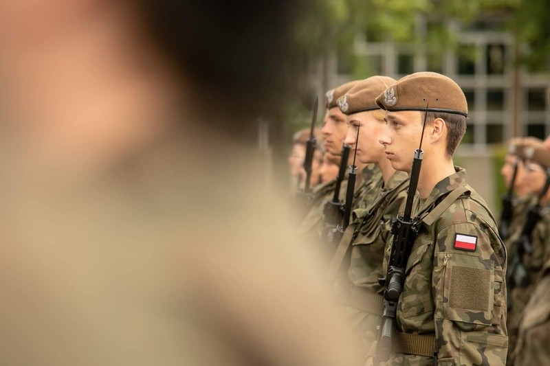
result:
<svg viewBox="0 0 550 366"><path fill-rule="evenodd" d="M514 241L512 247L515 248L514 256L511 258L511 262L508 264L506 272L506 286L507 286L507 307L511 308L511 290L516 286L525 287L529 283L527 277L527 269L522 264L522 258L525 253L531 253L531 234L535 229L537 222L542 218L542 198L547 194L550 187L550 168L546 170L547 178L544 182L544 187L538 194L537 203L527 210L527 218L523 223L521 229L521 235Z"/></svg>

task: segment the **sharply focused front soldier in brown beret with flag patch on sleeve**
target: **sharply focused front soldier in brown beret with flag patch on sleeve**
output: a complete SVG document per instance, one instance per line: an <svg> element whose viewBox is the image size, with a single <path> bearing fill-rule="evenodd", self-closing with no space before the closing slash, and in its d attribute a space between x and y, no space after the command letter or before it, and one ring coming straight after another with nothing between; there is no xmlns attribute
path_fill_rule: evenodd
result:
<svg viewBox="0 0 550 366"><path fill-rule="evenodd" d="M410 174L421 139L423 166L412 206L418 235L407 255L397 333L387 362L375 347L371 354L388 365L503 365L506 249L485 201L452 161L465 133L465 96L450 78L420 72L401 78L376 102L386 110L380 143L392 167Z"/></svg>

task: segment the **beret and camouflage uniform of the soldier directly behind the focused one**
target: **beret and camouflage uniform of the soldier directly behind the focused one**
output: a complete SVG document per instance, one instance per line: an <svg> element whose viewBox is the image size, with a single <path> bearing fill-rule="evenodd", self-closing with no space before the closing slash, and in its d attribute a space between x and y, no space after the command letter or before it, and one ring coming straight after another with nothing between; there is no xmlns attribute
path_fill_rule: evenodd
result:
<svg viewBox="0 0 550 366"><path fill-rule="evenodd" d="M362 80L344 97L340 97L340 110L347 115L355 115L380 109L375 104L375 98L394 82L385 76ZM345 104L342 102L344 98ZM356 117L362 119L365 116ZM366 122L371 123L383 122ZM382 150L381 145L374 148ZM404 172L395 172L384 183L377 164L367 165L365 171L371 175L370 182L362 185L355 194L352 224L347 228L332 263L338 264L340 260L345 263L333 289L340 296L342 314L355 340L357 365L364 364L366 354L375 341L376 325L380 322L383 308L380 295L383 289L378 278L382 277L384 249L390 237L391 220L404 203L408 187L408 175ZM331 269L334 267L331 266Z"/></svg>

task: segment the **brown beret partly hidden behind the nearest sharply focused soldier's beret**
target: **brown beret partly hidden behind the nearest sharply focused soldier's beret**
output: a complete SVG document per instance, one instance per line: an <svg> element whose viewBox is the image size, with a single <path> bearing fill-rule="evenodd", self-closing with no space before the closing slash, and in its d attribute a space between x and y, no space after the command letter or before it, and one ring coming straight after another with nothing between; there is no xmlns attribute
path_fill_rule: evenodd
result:
<svg viewBox="0 0 550 366"><path fill-rule="evenodd" d="M376 104L376 97L397 81L388 76L371 76L361 80L355 87L338 98L338 107L342 113L353 115L364 111L380 109Z"/></svg>

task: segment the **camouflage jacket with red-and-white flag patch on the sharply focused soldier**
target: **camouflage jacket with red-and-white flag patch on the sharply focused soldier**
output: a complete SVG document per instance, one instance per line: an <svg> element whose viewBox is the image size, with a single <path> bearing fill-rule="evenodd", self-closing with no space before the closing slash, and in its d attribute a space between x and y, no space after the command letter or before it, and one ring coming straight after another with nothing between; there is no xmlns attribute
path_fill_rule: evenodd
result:
<svg viewBox="0 0 550 366"><path fill-rule="evenodd" d="M439 365L503 365L507 352L506 249L483 198L465 170L443 179L428 198L415 198L420 218L447 194L467 188L419 235L406 266L397 306L397 331L434 336ZM390 248L384 255L384 273ZM388 365L433 365L433 358L391 355Z"/></svg>

